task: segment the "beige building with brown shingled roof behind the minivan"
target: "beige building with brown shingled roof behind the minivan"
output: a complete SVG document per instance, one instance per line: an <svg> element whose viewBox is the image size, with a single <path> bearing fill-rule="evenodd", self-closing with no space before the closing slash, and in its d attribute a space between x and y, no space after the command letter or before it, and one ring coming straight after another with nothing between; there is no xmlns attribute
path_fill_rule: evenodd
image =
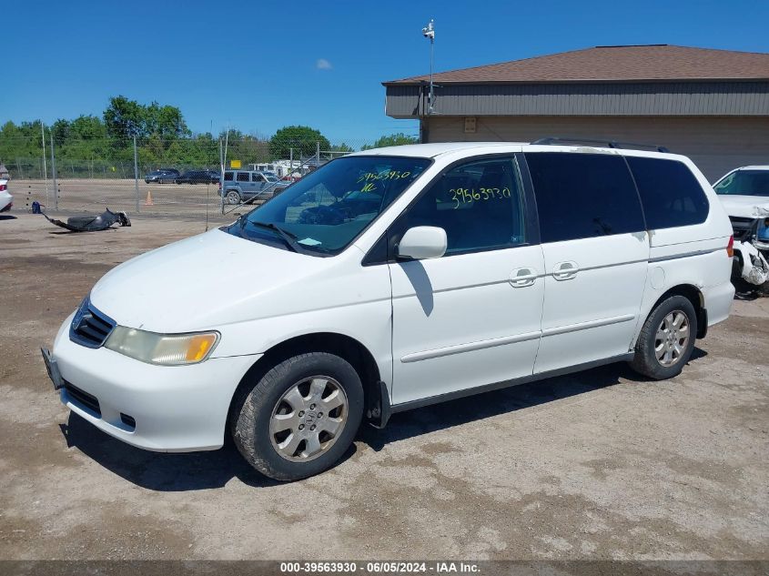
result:
<svg viewBox="0 0 769 576"><path fill-rule="evenodd" d="M769 54L597 46L383 83L387 114L423 142L547 136L664 146L714 180L769 164Z"/></svg>

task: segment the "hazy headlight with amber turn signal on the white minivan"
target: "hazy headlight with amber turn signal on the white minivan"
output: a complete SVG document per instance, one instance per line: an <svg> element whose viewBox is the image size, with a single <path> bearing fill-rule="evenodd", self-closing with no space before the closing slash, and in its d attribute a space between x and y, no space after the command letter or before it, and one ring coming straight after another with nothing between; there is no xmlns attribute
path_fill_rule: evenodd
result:
<svg viewBox="0 0 769 576"><path fill-rule="evenodd" d="M149 364L182 366L197 364L207 359L217 347L218 341L218 332L156 334L137 328L116 326L104 346Z"/></svg>

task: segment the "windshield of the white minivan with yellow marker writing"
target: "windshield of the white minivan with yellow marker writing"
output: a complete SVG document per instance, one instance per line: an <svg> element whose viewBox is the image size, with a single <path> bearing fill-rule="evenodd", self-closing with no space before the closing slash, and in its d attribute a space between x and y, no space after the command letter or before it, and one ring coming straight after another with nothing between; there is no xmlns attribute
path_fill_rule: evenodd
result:
<svg viewBox="0 0 769 576"><path fill-rule="evenodd" d="M341 157L226 231L317 256L339 254L429 166L427 158Z"/></svg>

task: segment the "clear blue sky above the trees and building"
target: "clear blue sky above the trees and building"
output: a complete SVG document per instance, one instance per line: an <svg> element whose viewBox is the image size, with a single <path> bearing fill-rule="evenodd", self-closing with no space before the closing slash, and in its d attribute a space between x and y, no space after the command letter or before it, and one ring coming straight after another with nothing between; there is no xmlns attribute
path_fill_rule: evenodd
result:
<svg viewBox="0 0 769 576"><path fill-rule="evenodd" d="M6 120L101 115L107 98L179 106L193 131L269 136L305 124L359 145L416 122L381 82L592 45L769 52L767 0L186 2L5 0Z"/></svg>

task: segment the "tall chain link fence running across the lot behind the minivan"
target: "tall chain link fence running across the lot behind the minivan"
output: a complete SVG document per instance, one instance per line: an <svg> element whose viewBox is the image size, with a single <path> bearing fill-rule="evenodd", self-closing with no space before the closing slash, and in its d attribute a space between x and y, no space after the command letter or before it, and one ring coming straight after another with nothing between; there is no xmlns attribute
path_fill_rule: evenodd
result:
<svg viewBox="0 0 769 576"><path fill-rule="evenodd" d="M0 173L8 172L15 210L40 203L49 213L112 211L161 217L227 217L263 201L258 196L220 194L222 167L264 175L270 189L288 186L329 160L368 147L362 140L285 139L210 135L143 140L90 138L66 143L0 136ZM0 174L0 177L2 175ZM243 178L243 176L240 176ZM245 184L245 183L240 183ZM245 205L245 206L244 206Z"/></svg>

